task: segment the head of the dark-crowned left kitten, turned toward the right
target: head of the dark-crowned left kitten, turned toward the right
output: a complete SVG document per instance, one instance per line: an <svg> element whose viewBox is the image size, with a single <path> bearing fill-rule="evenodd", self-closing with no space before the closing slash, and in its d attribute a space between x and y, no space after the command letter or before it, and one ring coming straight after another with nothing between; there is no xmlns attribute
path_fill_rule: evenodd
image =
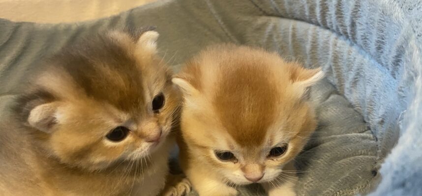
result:
<svg viewBox="0 0 422 196"><path fill-rule="evenodd" d="M158 33L110 31L62 49L35 71L17 112L34 142L69 166L103 170L159 147L178 105Z"/></svg>

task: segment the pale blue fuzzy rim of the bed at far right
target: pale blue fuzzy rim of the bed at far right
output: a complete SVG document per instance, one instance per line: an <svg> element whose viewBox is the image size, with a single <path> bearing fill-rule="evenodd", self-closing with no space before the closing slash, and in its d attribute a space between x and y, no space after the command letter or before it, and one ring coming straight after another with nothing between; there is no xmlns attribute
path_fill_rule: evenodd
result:
<svg viewBox="0 0 422 196"><path fill-rule="evenodd" d="M422 195L422 2L407 0L396 5L402 10L403 30L410 35L403 65L410 101L400 122L398 143L381 167L382 181L369 196Z"/></svg>

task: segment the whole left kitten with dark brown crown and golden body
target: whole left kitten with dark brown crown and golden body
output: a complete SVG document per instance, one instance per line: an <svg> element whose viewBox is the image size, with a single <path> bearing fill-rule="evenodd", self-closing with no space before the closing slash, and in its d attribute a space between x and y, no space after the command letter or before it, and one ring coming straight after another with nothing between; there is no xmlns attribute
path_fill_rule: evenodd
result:
<svg viewBox="0 0 422 196"><path fill-rule="evenodd" d="M100 33L30 71L0 124L0 195L159 194L180 95L157 37Z"/></svg>

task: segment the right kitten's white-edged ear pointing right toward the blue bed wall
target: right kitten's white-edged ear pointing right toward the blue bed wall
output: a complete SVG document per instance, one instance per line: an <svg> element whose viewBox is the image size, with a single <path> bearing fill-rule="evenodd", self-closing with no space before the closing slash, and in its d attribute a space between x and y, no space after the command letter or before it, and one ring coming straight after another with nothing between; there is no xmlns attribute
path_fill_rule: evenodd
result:
<svg viewBox="0 0 422 196"><path fill-rule="evenodd" d="M290 67L290 78L293 81L295 89L299 93L299 97L307 97L309 87L313 86L316 82L324 77L324 72L321 68L305 69L301 66Z"/></svg>

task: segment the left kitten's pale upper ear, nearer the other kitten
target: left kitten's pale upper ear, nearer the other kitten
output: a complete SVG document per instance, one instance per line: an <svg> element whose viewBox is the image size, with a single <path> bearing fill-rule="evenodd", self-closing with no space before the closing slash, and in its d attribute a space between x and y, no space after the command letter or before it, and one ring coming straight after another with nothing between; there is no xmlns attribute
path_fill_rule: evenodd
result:
<svg viewBox="0 0 422 196"><path fill-rule="evenodd" d="M158 36L157 31L150 30L143 32L136 43L136 50L139 53L155 54L157 52Z"/></svg>

